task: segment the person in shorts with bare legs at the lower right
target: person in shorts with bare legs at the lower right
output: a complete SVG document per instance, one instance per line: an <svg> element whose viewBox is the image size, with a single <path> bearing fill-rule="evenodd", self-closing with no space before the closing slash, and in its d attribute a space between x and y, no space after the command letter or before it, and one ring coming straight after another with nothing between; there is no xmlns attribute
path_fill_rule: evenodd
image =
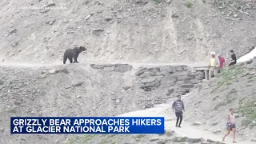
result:
<svg viewBox="0 0 256 144"><path fill-rule="evenodd" d="M226 122L226 129L227 129L227 134L222 138L222 142L224 142L226 136L230 134L230 131L233 131L233 142L237 143L234 141L235 138L235 115L234 115L234 109L230 109L230 114L228 114L227 118L228 122Z"/></svg>

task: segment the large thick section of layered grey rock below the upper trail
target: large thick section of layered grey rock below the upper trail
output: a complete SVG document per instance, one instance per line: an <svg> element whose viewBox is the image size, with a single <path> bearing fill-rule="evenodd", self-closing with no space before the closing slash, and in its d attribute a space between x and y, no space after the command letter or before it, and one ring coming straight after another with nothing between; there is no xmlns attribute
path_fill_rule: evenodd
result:
<svg viewBox="0 0 256 144"><path fill-rule="evenodd" d="M189 93L196 84L202 82L200 73L192 72L188 66L141 67L135 75L143 90L156 90L162 86L166 88L168 96Z"/></svg>

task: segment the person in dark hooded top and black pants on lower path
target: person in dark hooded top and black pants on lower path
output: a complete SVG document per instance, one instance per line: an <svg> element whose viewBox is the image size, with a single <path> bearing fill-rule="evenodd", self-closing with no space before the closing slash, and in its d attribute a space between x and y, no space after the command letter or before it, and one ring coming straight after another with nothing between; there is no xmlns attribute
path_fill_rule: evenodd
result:
<svg viewBox="0 0 256 144"><path fill-rule="evenodd" d="M184 103L181 100L181 96L178 95L177 100L174 101L173 105L172 105L173 111L175 110L175 115L177 117L177 121L176 121L176 127L181 127L182 124L182 110L185 111L184 108ZM179 123L178 123L179 121Z"/></svg>

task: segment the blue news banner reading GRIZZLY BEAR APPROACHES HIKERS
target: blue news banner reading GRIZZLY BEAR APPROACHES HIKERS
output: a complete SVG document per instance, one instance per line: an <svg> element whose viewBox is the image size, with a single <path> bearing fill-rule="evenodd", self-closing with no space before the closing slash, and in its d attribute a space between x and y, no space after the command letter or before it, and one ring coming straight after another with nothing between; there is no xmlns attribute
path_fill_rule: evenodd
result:
<svg viewBox="0 0 256 144"><path fill-rule="evenodd" d="M11 117L11 134L164 134L164 117Z"/></svg>

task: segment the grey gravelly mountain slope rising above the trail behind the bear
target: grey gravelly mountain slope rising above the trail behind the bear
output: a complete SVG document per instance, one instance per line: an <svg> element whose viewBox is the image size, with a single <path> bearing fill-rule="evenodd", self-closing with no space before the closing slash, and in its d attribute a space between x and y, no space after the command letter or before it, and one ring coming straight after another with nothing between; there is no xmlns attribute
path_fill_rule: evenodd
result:
<svg viewBox="0 0 256 144"><path fill-rule="evenodd" d="M81 62L192 63L207 62L211 50L226 56L233 49L239 57L254 46L254 13L226 6L232 13L226 14L219 2L191 2L2 1L0 58L62 63L64 50L83 45L88 52ZM45 5L51 9L20 9Z"/></svg>

